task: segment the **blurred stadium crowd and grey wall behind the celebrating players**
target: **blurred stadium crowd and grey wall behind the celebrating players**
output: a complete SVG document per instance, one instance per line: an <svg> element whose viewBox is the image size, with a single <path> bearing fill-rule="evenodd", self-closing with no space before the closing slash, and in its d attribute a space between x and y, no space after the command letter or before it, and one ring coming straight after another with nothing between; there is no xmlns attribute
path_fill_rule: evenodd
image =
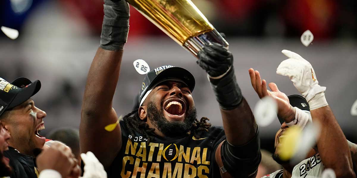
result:
<svg viewBox="0 0 357 178"><path fill-rule="evenodd" d="M227 35L235 58L238 83L253 109L258 96L250 85L248 69L259 70L267 82L276 82L287 95L297 90L287 77L275 73L286 59L282 49L299 53L315 68L326 86L327 100L342 130L357 142L356 116L350 114L357 99L356 0L192 0L219 32ZM0 26L19 30L10 40L0 32L0 77L9 82L24 76L39 79L35 104L47 112L46 130L78 128L86 74L99 46L102 0L1 0ZM306 30L314 35L308 47L300 42ZM144 75L132 62L144 59L151 69L162 64L185 67L196 78L193 98L198 117L222 125L218 104L190 53L131 9L130 31L114 108L118 115L131 111L132 100ZM276 120L261 127L262 147L273 150Z"/></svg>

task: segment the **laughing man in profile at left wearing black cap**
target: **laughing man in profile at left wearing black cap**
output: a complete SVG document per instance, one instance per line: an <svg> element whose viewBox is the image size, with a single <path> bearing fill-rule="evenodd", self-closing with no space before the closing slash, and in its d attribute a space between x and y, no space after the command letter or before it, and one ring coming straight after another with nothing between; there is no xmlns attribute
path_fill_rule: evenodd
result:
<svg viewBox="0 0 357 178"><path fill-rule="evenodd" d="M36 108L30 97L40 88L39 80L32 83L22 77L10 84L0 78L0 121L2 128L11 135L6 144L8 150L4 152L4 156L10 159L11 178L37 178L39 175L34 157L46 141L38 133L45 128L43 119L46 112ZM78 177L80 169L75 165L71 168L71 175Z"/></svg>

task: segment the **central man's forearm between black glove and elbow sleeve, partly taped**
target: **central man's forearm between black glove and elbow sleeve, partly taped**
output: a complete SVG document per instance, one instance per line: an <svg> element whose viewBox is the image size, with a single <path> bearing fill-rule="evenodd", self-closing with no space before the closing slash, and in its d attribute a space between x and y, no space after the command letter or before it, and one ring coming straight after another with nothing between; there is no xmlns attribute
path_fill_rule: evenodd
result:
<svg viewBox="0 0 357 178"><path fill-rule="evenodd" d="M247 143L255 135L257 125L237 84L234 68L231 67L220 79L210 78L210 82L216 100L220 104L227 141L236 146Z"/></svg>

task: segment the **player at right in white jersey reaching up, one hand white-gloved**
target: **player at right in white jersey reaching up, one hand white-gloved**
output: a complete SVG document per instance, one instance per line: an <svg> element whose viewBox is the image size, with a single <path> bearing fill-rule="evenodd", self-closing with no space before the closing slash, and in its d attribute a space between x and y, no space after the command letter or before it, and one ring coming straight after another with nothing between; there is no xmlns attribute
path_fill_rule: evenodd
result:
<svg viewBox="0 0 357 178"><path fill-rule="evenodd" d="M266 81L261 80L258 71L249 69L251 83L260 98L271 96L278 104L278 117L282 126L275 136L275 148L280 145L280 137L289 129L289 126L297 125L304 128L309 119L321 126L320 137L316 142L316 148L311 148L307 159L296 165L289 161L281 161L277 150L273 158L283 166L266 177L270 178L296 178L296 177L321 177L325 168L332 168L337 178L356 177L353 172L351 152L345 135L338 125L330 106L328 106L325 93L326 87L318 85L315 71L311 64L300 55L283 50L289 59L283 61L277 68L277 73L290 77L294 86L303 96L292 95L287 97L278 90L275 83L270 83L271 91L267 90ZM307 98L307 100L305 99ZM310 110L311 115L306 112Z"/></svg>

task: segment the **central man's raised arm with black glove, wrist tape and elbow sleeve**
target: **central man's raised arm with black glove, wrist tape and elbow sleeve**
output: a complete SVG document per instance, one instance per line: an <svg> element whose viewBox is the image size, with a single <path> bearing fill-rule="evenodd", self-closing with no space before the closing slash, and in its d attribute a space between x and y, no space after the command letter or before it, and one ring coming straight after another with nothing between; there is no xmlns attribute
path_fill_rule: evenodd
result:
<svg viewBox="0 0 357 178"><path fill-rule="evenodd" d="M258 126L237 84L232 53L214 43L204 46L198 57L220 105L226 134L226 141L216 151L221 175L255 177L261 160Z"/></svg>

